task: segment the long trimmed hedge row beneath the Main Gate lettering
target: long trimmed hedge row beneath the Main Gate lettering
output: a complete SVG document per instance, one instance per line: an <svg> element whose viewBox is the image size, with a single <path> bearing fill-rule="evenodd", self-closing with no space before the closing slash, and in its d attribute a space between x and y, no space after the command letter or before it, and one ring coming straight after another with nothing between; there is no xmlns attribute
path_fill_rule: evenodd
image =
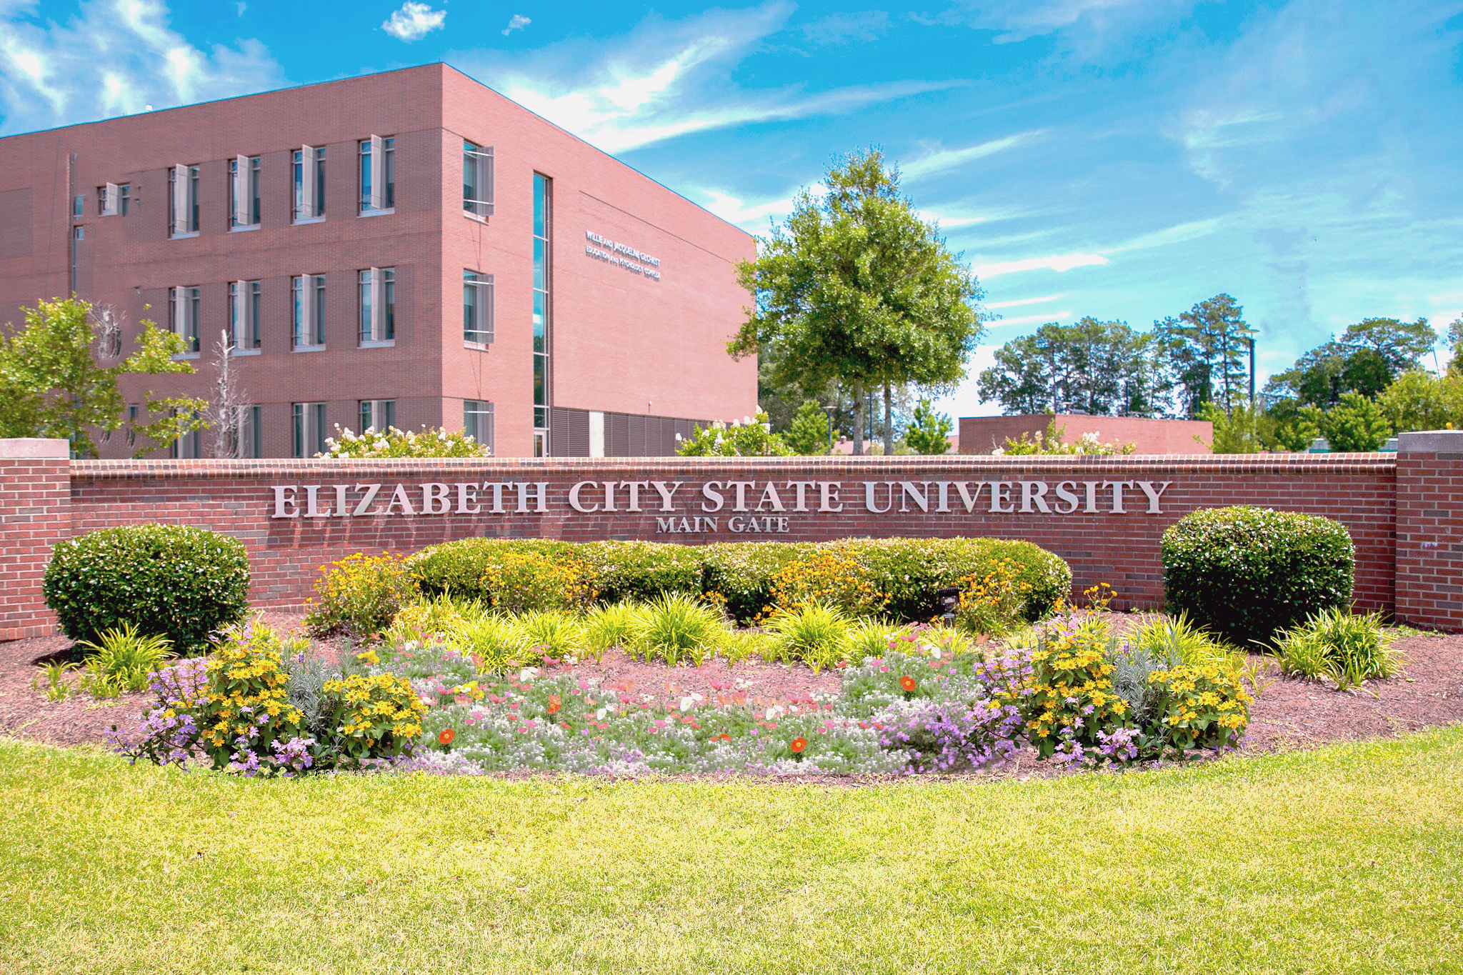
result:
<svg viewBox="0 0 1463 975"><path fill-rule="evenodd" d="M423 595L451 593L492 602L487 569L508 553L587 566L603 602L652 599L663 593L718 593L739 623L751 623L771 602L774 577L819 550L859 564L887 598L884 612L901 620L939 615L935 591L961 576L985 576L999 563L1017 569L1028 588L1023 615L1037 620L1071 592L1072 570L1031 542L998 538L884 538L835 542L666 542L464 538L424 548L408 560Z"/></svg>

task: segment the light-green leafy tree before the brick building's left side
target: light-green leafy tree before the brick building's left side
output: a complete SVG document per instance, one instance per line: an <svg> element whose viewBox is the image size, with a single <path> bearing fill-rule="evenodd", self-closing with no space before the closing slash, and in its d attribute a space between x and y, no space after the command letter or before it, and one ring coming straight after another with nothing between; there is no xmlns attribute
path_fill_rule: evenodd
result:
<svg viewBox="0 0 1463 975"><path fill-rule="evenodd" d="M38 301L22 313L23 326L6 325L0 332L3 437L64 437L75 456L94 458L92 431L117 430L123 422L119 376L193 371L174 358L183 351L183 341L152 322L142 322L138 348L123 360L120 323L86 301ZM102 365L104 361L113 364ZM171 441L205 425L202 401L155 399L149 393L146 405L155 420L139 428L143 436ZM142 450L149 449L154 447Z"/></svg>

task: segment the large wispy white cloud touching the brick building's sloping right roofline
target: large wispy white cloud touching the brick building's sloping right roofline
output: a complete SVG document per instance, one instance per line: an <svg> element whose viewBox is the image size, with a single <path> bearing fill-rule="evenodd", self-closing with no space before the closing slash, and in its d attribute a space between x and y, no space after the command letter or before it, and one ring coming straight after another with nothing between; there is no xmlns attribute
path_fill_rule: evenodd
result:
<svg viewBox="0 0 1463 975"><path fill-rule="evenodd" d="M835 115L964 85L884 82L809 92L802 85L748 89L732 70L783 31L793 4L707 10L683 20L650 16L625 37L573 39L514 56L454 53L454 63L544 118L607 152L691 133Z"/></svg>

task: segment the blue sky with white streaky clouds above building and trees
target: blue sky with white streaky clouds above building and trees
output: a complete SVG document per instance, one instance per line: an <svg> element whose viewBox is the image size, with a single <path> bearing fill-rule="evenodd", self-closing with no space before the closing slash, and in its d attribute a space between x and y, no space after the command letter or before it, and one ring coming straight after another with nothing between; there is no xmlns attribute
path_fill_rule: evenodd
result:
<svg viewBox="0 0 1463 975"><path fill-rule="evenodd" d="M0 133L436 60L752 232L884 149L1002 316L955 414L1043 322L1463 316L1463 0L0 0Z"/></svg>

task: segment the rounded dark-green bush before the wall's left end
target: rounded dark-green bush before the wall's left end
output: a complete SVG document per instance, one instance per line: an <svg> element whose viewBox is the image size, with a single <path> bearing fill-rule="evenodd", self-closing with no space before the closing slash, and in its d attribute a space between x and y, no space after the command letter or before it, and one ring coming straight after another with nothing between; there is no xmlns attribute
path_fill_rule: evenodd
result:
<svg viewBox="0 0 1463 975"><path fill-rule="evenodd" d="M42 592L73 640L130 623L196 653L249 608L249 554L183 525L104 528L56 545Z"/></svg>

